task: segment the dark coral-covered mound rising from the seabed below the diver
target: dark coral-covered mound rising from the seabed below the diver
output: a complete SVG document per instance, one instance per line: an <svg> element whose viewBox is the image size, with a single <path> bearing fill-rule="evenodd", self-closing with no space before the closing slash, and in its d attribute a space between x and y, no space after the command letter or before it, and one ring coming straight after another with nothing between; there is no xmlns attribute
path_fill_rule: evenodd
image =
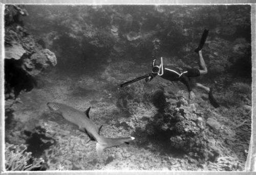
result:
<svg viewBox="0 0 256 175"><path fill-rule="evenodd" d="M148 134L154 137L161 137L160 133L169 135L166 137L169 137L170 149L184 151L200 162L215 161L219 153L205 138L204 125L202 112L191 109L184 97L177 96L177 103L166 105L164 112L157 113L146 130L151 128Z"/></svg>

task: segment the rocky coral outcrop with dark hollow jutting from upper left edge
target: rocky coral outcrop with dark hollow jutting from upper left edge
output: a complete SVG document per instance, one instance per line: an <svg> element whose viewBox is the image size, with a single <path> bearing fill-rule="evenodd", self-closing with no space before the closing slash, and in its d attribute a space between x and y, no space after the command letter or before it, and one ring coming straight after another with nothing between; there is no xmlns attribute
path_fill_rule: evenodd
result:
<svg viewBox="0 0 256 175"><path fill-rule="evenodd" d="M19 15L27 16L28 13L22 6L6 6L5 98L9 101L15 99L22 90L30 91L36 86L34 76L57 64L55 54L49 49L42 49L35 42L21 23Z"/></svg>

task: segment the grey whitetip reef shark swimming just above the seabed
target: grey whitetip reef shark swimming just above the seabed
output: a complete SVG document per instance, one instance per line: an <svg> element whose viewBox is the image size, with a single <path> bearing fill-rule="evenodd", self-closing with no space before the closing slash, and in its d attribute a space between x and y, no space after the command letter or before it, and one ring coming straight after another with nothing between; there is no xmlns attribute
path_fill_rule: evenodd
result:
<svg viewBox="0 0 256 175"><path fill-rule="evenodd" d="M63 116L69 122L78 126L80 131L86 132L90 140L97 141L96 151L98 156L101 156L103 150L108 147L118 146L120 144L126 143L129 144L130 141L134 140L134 137L124 137L124 138L106 138L100 135L100 129L102 125L97 128L94 122L90 119L89 112L91 107L86 111L82 112L73 107L49 102L47 103L48 108L53 112ZM89 141L90 141L89 140Z"/></svg>

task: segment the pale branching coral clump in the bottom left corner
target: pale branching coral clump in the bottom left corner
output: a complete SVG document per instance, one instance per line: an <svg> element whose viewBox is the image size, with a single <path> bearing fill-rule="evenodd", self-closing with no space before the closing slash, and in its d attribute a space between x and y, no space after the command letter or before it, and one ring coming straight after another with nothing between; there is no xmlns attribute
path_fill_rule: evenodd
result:
<svg viewBox="0 0 256 175"><path fill-rule="evenodd" d="M44 159L34 159L31 152L26 152L27 146L14 145L6 142L5 148L5 167L8 171L30 171L41 169Z"/></svg>

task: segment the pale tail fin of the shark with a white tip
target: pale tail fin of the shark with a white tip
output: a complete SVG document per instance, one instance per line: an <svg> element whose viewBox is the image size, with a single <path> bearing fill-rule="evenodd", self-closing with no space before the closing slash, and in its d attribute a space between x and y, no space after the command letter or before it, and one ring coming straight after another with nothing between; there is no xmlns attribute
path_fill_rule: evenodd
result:
<svg viewBox="0 0 256 175"><path fill-rule="evenodd" d="M96 143L97 154L98 156L101 156L105 148L118 146L123 143L129 144L129 142L131 142L134 139L135 139L134 137L124 137L124 138L101 137L101 139L97 140L97 143Z"/></svg>

